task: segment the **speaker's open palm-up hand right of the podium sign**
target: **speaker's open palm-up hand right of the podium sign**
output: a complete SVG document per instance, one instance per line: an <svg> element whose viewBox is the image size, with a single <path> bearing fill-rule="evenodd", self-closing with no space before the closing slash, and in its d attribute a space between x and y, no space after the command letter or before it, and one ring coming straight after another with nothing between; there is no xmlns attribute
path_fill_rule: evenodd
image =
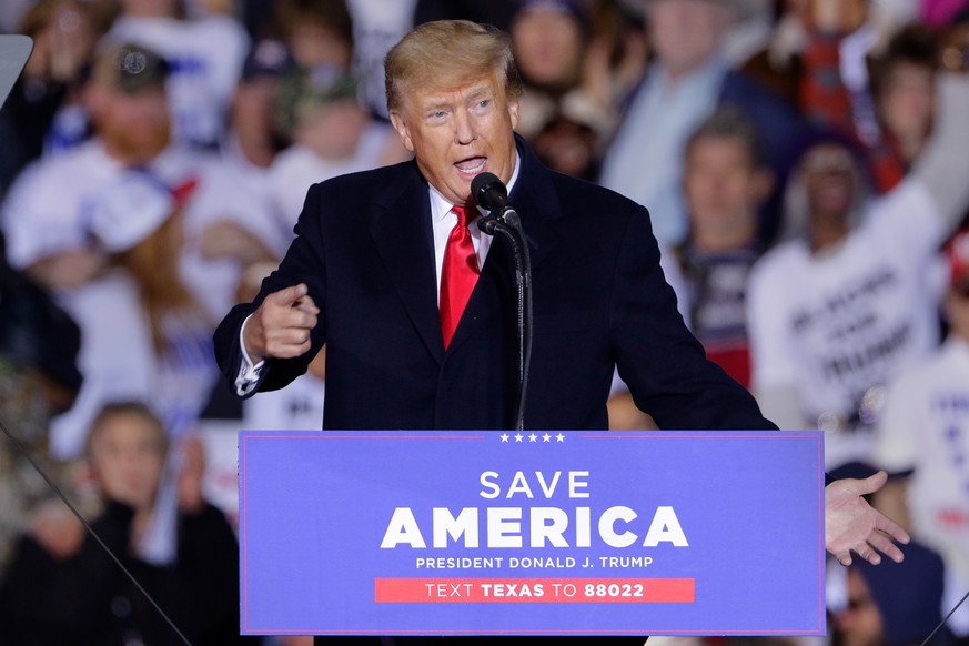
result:
<svg viewBox="0 0 969 646"><path fill-rule="evenodd" d="M839 480L825 487L825 547L841 565L851 565L851 552L872 565L881 563L879 552L896 563L904 558L895 542L908 543L908 533L861 497L880 489L887 480L888 474L879 471L865 480Z"/></svg>

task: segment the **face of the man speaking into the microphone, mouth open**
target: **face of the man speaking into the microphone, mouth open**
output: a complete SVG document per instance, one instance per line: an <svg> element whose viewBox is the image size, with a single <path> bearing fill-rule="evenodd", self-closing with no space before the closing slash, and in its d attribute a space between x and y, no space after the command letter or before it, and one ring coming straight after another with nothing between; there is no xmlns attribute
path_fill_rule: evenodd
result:
<svg viewBox="0 0 969 646"><path fill-rule="evenodd" d="M391 121L431 185L455 204L470 201L478 173L512 179L518 103L496 74L455 89L408 90Z"/></svg>

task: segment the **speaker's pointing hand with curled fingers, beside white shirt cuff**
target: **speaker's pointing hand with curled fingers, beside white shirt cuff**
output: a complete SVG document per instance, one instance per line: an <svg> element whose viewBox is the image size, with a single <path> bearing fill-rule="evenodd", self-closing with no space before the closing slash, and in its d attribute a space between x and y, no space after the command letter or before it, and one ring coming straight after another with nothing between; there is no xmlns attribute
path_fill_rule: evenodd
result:
<svg viewBox="0 0 969 646"><path fill-rule="evenodd" d="M310 331L320 309L300 283L265 297L243 330L245 352L253 363L265 357L291 359L310 350Z"/></svg>

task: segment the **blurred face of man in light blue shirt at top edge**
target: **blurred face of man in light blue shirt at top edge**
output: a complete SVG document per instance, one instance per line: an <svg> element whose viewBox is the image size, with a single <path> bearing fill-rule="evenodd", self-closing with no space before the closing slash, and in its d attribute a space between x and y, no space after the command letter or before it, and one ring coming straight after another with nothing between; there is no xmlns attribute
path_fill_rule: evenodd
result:
<svg viewBox="0 0 969 646"><path fill-rule="evenodd" d="M649 40L670 75L689 73L717 51L730 10L720 0L654 0Z"/></svg>

